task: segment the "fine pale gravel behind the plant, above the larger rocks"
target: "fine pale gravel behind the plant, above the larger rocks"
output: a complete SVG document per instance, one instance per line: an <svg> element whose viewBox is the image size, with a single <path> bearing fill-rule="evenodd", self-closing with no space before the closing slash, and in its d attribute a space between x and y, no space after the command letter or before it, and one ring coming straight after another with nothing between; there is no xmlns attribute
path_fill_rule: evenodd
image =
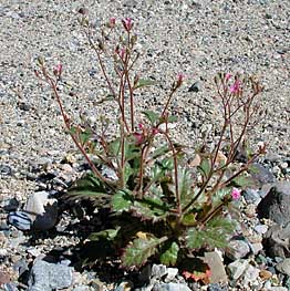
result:
<svg viewBox="0 0 290 291"><path fill-rule="evenodd" d="M214 75L247 72L265 85L267 112L252 143L267 142L269 155L289 158L289 1L0 0L0 198L24 201L39 187L27 179L29 169L58 164L74 150L51 91L34 76L38 56L49 66L63 63L68 112L90 118L115 114L114 106L94 106L106 91L77 24L80 7L89 9L96 25L111 17L134 19L143 53L138 70L157 81L136 96L139 108L160 108L175 75L186 74L173 103L178 142L195 147L203 131L218 126ZM188 92L195 82L198 92Z"/></svg>

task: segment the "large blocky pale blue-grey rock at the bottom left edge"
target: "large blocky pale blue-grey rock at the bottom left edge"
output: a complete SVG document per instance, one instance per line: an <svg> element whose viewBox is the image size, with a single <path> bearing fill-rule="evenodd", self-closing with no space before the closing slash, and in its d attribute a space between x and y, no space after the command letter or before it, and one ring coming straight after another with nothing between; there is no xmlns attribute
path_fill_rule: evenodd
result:
<svg viewBox="0 0 290 291"><path fill-rule="evenodd" d="M28 291L52 291L69 288L72 282L72 268L39 260L30 271Z"/></svg>

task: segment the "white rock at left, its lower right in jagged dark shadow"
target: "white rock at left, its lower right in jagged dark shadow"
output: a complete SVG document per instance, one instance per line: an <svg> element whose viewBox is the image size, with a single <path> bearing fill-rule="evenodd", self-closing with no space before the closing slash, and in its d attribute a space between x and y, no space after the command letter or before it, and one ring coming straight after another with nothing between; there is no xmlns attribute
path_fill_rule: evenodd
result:
<svg viewBox="0 0 290 291"><path fill-rule="evenodd" d="M38 191L29 196L24 211L33 216L33 228L51 229L58 220L58 200L49 198L49 193Z"/></svg>

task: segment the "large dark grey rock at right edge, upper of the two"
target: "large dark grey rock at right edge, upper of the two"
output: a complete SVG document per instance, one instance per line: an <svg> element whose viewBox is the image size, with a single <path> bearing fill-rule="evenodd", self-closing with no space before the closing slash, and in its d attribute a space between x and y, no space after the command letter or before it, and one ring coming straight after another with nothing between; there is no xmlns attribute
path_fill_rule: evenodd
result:
<svg viewBox="0 0 290 291"><path fill-rule="evenodd" d="M269 218L278 225L290 222L290 181L275 183L257 210L260 218Z"/></svg>

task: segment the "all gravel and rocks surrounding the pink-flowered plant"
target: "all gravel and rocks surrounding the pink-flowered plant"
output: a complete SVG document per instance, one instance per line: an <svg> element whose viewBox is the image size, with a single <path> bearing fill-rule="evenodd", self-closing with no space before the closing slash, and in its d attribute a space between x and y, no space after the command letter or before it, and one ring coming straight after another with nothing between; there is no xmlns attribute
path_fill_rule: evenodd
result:
<svg viewBox="0 0 290 291"><path fill-rule="evenodd" d="M177 269L163 266L133 276L75 263L72 250L90 217L83 221L81 206L72 216L59 193L85 165L33 70L40 55L51 67L63 64L62 97L76 118L115 116L114 106L95 106L106 87L77 23L82 7L95 27L111 17L134 19L138 72L157 83L136 96L138 110L160 110L175 75L186 74L172 108L179 121L174 134L191 148L205 134L214 141L219 126L217 72L255 74L265 85L266 115L249 136L253 147L268 144L256 165L260 188L244 194L240 228L222 260L217 251L207 254L215 270L208 285L185 282ZM289 17L283 0L0 0L0 289L289 290ZM23 209L45 211L32 225Z"/></svg>

